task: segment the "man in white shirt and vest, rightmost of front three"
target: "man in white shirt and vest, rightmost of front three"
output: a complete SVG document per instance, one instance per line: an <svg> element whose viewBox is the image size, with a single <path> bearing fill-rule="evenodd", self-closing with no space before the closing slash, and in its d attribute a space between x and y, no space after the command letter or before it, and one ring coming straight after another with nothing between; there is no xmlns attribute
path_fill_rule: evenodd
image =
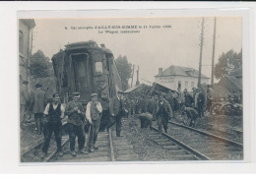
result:
<svg viewBox="0 0 256 180"><path fill-rule="evenodd" d="M89 121L89 152L94 152L97 150L96 138L98 133L98 128L100 125L100 119L102 114L102 106L99 101L97 101L97 94L92 93L92 101L87 104L86 117Z"/></svg>

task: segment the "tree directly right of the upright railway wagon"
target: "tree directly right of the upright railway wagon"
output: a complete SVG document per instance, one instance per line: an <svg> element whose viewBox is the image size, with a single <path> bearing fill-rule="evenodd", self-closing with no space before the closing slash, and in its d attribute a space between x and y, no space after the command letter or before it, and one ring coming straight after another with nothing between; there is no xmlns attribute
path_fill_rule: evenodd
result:
<svg viewBox="0 0 256 180"><path fill-rule="evenodd" d="M127 90L129 88L128 80L132 75L132 64L128 63L126 56L119 55L115 60L116 68L119 73L122 82L122 89Z"/></svg>

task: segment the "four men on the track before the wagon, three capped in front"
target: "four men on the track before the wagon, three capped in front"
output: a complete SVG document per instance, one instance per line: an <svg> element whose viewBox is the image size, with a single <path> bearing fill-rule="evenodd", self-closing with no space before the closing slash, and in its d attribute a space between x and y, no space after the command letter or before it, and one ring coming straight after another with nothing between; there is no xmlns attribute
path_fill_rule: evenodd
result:
<svg viewBox="0 0 256 180"><path fill-rule="evenodd" d="M91 94L92 100L88 102L86 110L83 104L80 102L80 93L74 92L73 98L66 105L64 109L60 103L59 94L53 94L53 102L46 105L44 110L45 116L45 142L42 149L42 158L46 156L49 147L49 142L52 133L54 132L55 140L57 144L57 151L60 156L63 155L61 149L61 120L64 115L68 116L67 127L70 141L70 153L75 156L78 153L87 154L88 152L94 152L98 148L96 147L96 139L98 129L100 125L100 119L102 116L102 106L97 99L97 94ZM121 133L121 116L122 116L122 101L117 94L110 101L110 114L112 121L107 124L109 129L114 123L116 123L116 136L120 137ZM85 125L89 123L88 133L88 149L85 150L86 133ZM79 150L75 150L76 137L78 137Z"/></svg>

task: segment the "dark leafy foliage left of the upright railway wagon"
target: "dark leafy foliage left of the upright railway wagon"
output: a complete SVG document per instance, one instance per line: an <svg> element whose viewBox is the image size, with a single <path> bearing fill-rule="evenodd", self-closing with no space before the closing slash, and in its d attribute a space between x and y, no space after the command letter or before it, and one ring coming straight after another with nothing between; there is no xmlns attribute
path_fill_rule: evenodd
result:
<svg viewBox="0 0 256 180"><path fill-rule="evenodd" d="M32 78L35 79L53 76L52 63L41 50L32 54L30 69Z"/></svg>

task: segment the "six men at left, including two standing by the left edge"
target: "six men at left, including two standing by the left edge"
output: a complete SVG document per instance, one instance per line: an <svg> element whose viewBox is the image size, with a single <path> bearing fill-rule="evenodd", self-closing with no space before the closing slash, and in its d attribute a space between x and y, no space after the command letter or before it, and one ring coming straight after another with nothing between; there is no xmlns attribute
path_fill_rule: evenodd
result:
<svg viewBox="0 0 256 180"><path fill-rule="evenodd" d="M75 156L78 153L87 154L88 152L94 152L98 148L96 147L96 139L98 129L100 125L100 119L102 116L102 106L97 99L97 93L92 93L92 100L87 104L86 109L80 102L80 93L74 92L72 98L64 107L60 102L60 95L54 93L52 95L52 101L47 102L45 99L45 92L41 90L41 85L35 85L31 95L28 93L28 82L23 83L21 90L21 118L25 118L25 108L27 103L32 103L32 109L34 112L34 120L37 129L37 133L44 135L44 144L42 147L41 158L47 155L51 136L54 132L55 141L57 145L57 152L59 156L63 155L61 148L62 139L62 121L67 116L67 130L70 141L70 153ZM32 98L31 100L29 100ZM29 102L28 102L29 101ZM32 102L31 102L32 101ZM116 123L116 136L120 137L121 133L121 116L122 116L122 100L119 94L116 94L110 101L110 115L111 121L107 124L107 130ZM89 124L88 133L88 147L85 150L86 132L85 125ZM75 150L76 137L78 137L78 148Z"/></svg>

